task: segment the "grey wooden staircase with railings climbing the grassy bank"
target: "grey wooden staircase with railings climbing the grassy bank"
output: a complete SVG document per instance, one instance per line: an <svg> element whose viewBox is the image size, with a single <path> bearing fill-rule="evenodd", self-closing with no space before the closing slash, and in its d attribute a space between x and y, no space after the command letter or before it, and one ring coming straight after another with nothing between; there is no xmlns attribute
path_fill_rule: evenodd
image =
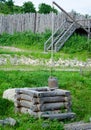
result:
<svg viewBox="0 0 91 130"><path fill-rule="evenodd" d="M52 46L55 52L59 51L77 28L78 26L75 22L64 21L61 26L54 32L53 43L52 36L50 36L50 38L44 43L44 51L51 50Z"/></svg>

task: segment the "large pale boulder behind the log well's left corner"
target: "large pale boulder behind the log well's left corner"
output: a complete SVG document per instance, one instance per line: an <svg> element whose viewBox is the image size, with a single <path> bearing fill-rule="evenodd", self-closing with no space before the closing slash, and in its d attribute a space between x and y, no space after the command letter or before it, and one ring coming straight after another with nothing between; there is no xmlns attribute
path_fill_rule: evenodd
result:
<svg viewBox="0 0 91 130"><path fill-rule="evenodd" d="M12 88L12 89L7 89L3 92L3 98L11 100L11 101L15 101L15 89L16 88Z"/></svg>

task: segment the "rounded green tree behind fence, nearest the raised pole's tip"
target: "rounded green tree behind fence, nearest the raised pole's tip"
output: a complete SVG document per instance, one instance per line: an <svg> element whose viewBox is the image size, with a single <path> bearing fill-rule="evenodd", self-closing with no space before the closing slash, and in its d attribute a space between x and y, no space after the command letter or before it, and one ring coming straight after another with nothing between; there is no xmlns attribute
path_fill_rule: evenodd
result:
<svg viewBox="0 0 91 130"><path fill-rule="evenodd" d="M54 13L57 13L58 11L55 9L55 8L52 8L50 5L48 4L45 4L45 3L41 3L39 4L39 7L38 7L38 12L39 13L43 13L43 14L48 14L50 12L54 12Z"/></svg>

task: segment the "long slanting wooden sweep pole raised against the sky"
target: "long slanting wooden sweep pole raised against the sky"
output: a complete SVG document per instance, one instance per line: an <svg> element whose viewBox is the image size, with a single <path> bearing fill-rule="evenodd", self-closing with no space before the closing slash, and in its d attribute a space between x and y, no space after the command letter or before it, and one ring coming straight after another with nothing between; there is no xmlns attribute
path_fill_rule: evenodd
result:
<svg viewBox="0 0 91 130"><path fill-rule="evenodd" d="M56 5L62 12L64 12L73 22L81 26L88 34L91 34L86 28L84 28L80 23L78 23L73 17L71 17L62 7L60 7L56 2L53 1L53 4Z"/></svg>

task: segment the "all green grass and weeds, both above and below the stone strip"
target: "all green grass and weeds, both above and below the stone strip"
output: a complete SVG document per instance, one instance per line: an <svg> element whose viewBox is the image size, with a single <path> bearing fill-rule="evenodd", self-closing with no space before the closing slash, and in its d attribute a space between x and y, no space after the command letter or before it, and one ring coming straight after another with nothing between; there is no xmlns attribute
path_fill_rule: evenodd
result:
<svg viewBox="0 0 91 130"><path fill-rule="evenodd" d="M43 34L33 34L32 32L15 33L14 35L3 34L0 36L0 46L9 46L22 49L13 51L11 49L0 48L0 55L9 54L12 57L26 56L33 59L50 59L51 53L44 53L44 42L51 35L50 31ZM85 36L74 34L65 44L64 48L58 53L54 53L54 59L78 59L86 61L91 58L91 40L87 42ZM5 55L4 55L5 56ZM0 66L1 69L12 69L12 71L0 70L0 119L12 117L17 120L15 127L0 126L0 130L63 130L63 123L59 121L50 121L35 119L30 115L15 113L14 104L8 100L2 99L4 90L8 88L20 87L43 87L48 84L50 68L46 66L12 66L7 64ZM24 69L24 71L21 69ZM72 95L72 111L76 113L76 119L73 121L89 121L91 117L91 72L84 70L83 75L80 72L67 72L56 68L53 76L57 77L59 88L66 89ZM74 68L73 68L74 69ZM75 68L79 69L79 68ZM61 71L57 71L61 70ZM64 123L70 121L64 121Z"/></svg>

